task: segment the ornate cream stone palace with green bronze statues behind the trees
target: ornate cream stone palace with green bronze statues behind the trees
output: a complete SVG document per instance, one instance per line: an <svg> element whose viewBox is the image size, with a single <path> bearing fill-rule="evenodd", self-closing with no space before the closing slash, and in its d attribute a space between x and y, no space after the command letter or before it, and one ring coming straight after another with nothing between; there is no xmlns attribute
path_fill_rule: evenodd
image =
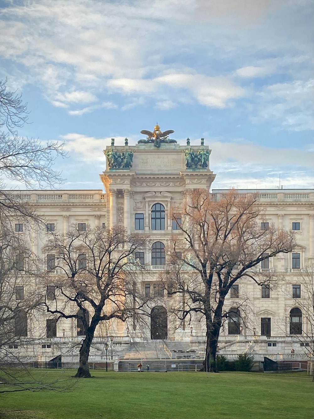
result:
<svg viewBox="0 0 314 419"><path fill-rule="evenodd" d="M166 137L166 141L161 138L159 144L151 138L132 146L128 145L127 140L126 145L115 146L112 140L111 146L106 147L104 152L107 165L100 174L103 187L98 190L19 192L44 216L47 225L47 232L31 231L32 250L43 258L49 275L53 276L59 272L54 269L53 255L47 253L50 231L66 232L71 225L110 228L117 224L124 225L129 232L148 236L148 250L138 255L146 268L141 277L141 286L147 295L158 295L159 305L162 304L161 299L164 300L164 314L158 313L159 316L165 316L163 335L154 335L153 327L152 330L130 330L122 322L112 323L106 330L99 328L90 360L103 359L104 343L109 340L108 336L113 336L109 340L109 350L120 356L132 350L132 343L137 342L139 350L148 351L153 349L152 343L155 345L156 342L161 348L162 341L166 353L181 348L193 350L196 357L202 357L205 346L202 323L192 321L178 325L167 321L167 307L174 304L175 298L168 298L166 291L160 295L157 282L158 275L166 265L165 246L173 234L182 234L169 216L170 206L179 206L186 192L191 189L211 190L217 197L224 193L223 190L212 189L216 175L210 170L211 150L203 145L203 139L201 145L190 146L189 140L187 145L179 145ZM254 191L239 192L245 194ZM220 353L230 357L250 351L260 357L280 354L288 359L292 356L291 349L301 353L308 345L305 336L302 341L300 333L295 333L299 331L298 328L307 330L308 327L304 313L296 305L296 298L306 297L302 295L300 274L306 265L314 261L314 190L260 190L259 199L266 208L263 223L274 223L278 228L294 230L297 246L293 253L266 260L259 267L257 275L273 272L282 279L274 289L262 289L254 282L245 281L234 287L232 295L226 299L226 305L231 308L237 299L245 298L250 301L250 310L247 311L245 322L235 319L232 325L225 323L219 348ZM48 315L28 322L28 336L37 336L38 341L24 348L25 353L35 358L39 355L41 360L50 360L60 354L64 360L77 357L77 349L72 352L69 350L82 339L78 336L80 333L76 321L60 319L55 329L44 331L44 335L47 332L46 336L49 337L43 337L41 326L46 327L47 319ZM291 323L296 323L292 325L294 331Z"/></svg>

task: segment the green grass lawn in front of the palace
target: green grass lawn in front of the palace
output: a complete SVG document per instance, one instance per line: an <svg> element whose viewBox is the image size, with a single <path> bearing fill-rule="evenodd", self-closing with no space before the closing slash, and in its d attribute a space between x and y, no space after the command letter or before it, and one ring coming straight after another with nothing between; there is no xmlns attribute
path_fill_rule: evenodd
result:
<svg viewBox="0 0 314 419"><path fill-rule="evenodd" d="M40 374L39 372L37 372ZM43 372L42 372L43 373ZM44 372L56 378L58 372ZM73 372L66 372L70 377ZM313 419L313 382L304 373L103 372L74 391L0 396L1 419Z"/></svg>

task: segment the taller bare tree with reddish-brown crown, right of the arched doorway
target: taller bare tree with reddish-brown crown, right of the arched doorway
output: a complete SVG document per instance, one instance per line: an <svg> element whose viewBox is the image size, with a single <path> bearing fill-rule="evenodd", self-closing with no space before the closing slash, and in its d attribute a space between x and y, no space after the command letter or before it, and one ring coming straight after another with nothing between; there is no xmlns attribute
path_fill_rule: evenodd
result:
<svg viewBox="0 0 314 419"><path fill-rule="evenodd" d="M173 208L172 217L184 233L184 240L171 241L172 260L180 269L168 271L171 294L184 296L176 310L181 321L192 315L206 323L204 369L218 372L216 352L221 326L226 319L237 323L242 307L224 310L227 293L239 279L270 286L270 277L261 277L255 267L261 261L288 253L294 246L293 233L263 224L263 209L257 194L242 196L230 190L220 199L206 190L193 190L182 208ZM207 363L207 367L206 367Z"/></svg>

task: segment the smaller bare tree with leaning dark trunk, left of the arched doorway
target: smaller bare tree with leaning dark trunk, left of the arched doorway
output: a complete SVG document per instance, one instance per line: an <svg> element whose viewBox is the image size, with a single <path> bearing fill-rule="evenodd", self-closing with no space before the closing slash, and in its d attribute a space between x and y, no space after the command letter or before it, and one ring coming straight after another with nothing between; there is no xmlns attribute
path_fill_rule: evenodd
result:
<svg viewBox="0 0 314 419"><path fill-rule="evenodd" d="M47 311L56 318L75 319L80 344L77 378L89 378L88 356L97 326L113 319L127 321L141 310L145 300L136 292L135 252L145 246L145 238L115 226L53 235L49 252L55 253L56 296L46 301ZM50 285L51 279L49 279Z"/></svg>

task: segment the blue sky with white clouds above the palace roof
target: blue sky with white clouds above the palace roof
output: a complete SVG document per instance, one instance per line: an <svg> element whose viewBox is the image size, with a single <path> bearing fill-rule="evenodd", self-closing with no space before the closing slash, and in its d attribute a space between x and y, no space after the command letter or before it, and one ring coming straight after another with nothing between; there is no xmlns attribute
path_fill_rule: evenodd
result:
<svg viewBox="0 0 314 419"><path fill-rule="evenodd" d="M212 149L214 188L313 188L310 0L0 0L0 78L20 134L65 142L64 189L100 189L102 150L141 129ZM9 182L8 186L22 187Z"/></svg>

